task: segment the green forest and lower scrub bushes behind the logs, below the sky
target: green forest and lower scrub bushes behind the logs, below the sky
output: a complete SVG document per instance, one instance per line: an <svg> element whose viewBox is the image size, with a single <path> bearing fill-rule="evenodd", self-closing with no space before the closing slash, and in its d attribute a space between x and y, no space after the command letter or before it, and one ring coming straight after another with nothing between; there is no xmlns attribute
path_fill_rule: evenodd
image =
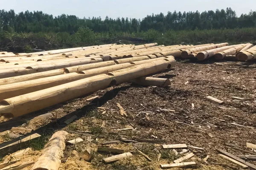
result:
<svg viewBox="0 0 256 170"><path fill-rule="evenodd" d="M0 51L68 48L103 43L198 44L255 42L256 11L241 14L231 8L151 14L136 18L53 17L42 11L0 10Z"/></svg>

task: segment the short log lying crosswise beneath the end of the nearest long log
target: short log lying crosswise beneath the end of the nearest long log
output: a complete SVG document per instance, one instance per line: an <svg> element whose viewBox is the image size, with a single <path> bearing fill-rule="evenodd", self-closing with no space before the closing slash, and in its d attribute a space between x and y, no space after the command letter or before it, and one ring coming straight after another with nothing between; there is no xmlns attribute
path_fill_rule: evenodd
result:
<svg viewBox="0 0 256 170"><path fill-rule="evenodd" d="M156 77L140 77L137 79L132 79L130 82L138 85L145 85L145 86L154 85L157 87L166 87L168 85L171 85L171 82L169 79L156 78Z"/></svg>

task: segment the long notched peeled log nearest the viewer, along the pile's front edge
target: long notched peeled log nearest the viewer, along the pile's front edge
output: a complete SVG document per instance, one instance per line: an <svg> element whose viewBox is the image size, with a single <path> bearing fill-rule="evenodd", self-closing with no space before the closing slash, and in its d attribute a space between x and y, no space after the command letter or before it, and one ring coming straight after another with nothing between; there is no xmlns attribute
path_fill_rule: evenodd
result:
<svg viewBox="0 0 256 170"><path fill-rule="evenodd" d="M145 60L146 61L146 60ZM146 64L135 65L107 74L100 74L63 85L54 86L29 94L15 96L0 102L0 114L21 116L26 113L38 111L51 105L64 102L75 97L90 94L100 89L105 89L116 83L127 82L148 74L162 71L171 67L170 63L164 59Z"/></svg>

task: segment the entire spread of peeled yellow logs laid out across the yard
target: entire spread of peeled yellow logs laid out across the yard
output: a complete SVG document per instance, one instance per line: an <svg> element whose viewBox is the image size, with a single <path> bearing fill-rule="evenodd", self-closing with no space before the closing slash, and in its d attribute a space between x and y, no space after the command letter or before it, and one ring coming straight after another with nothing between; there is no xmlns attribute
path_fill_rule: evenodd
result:
<svg viewBox="0 0 256 170"><path fill-rule="evenodd" d="M0 52L0 114L20 116L122 82L145 85L154 80L144 76L174 67L175 57L224 59L234 54L241 60L253 59L256 48L252 44L164 46L151 43L20 54L3 51ZM157 82L165 80L156 79Z"/></svg>

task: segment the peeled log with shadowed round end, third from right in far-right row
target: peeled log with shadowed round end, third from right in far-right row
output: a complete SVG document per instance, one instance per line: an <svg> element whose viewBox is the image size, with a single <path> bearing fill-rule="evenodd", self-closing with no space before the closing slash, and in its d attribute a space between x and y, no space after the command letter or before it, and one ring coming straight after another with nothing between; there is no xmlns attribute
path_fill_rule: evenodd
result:
<svg viewBox="0 0 256 170"><path fill-rule="evenodd" d="M196 55L196 58L200 61L204 60L204 59L208 59L210 57L213 57L215 54L217 54L218 52L221 52L221 51L224 51L224 50L227 50L227 49L230 49L230 48L233 48L233 47L236 47L238 45L230 45L230 46L224 46L224 47L221 47L221 48L215 48L215 49L212 49L212 50L207 50L207 51L201 51L199 52L197 55Z"/></svg>

